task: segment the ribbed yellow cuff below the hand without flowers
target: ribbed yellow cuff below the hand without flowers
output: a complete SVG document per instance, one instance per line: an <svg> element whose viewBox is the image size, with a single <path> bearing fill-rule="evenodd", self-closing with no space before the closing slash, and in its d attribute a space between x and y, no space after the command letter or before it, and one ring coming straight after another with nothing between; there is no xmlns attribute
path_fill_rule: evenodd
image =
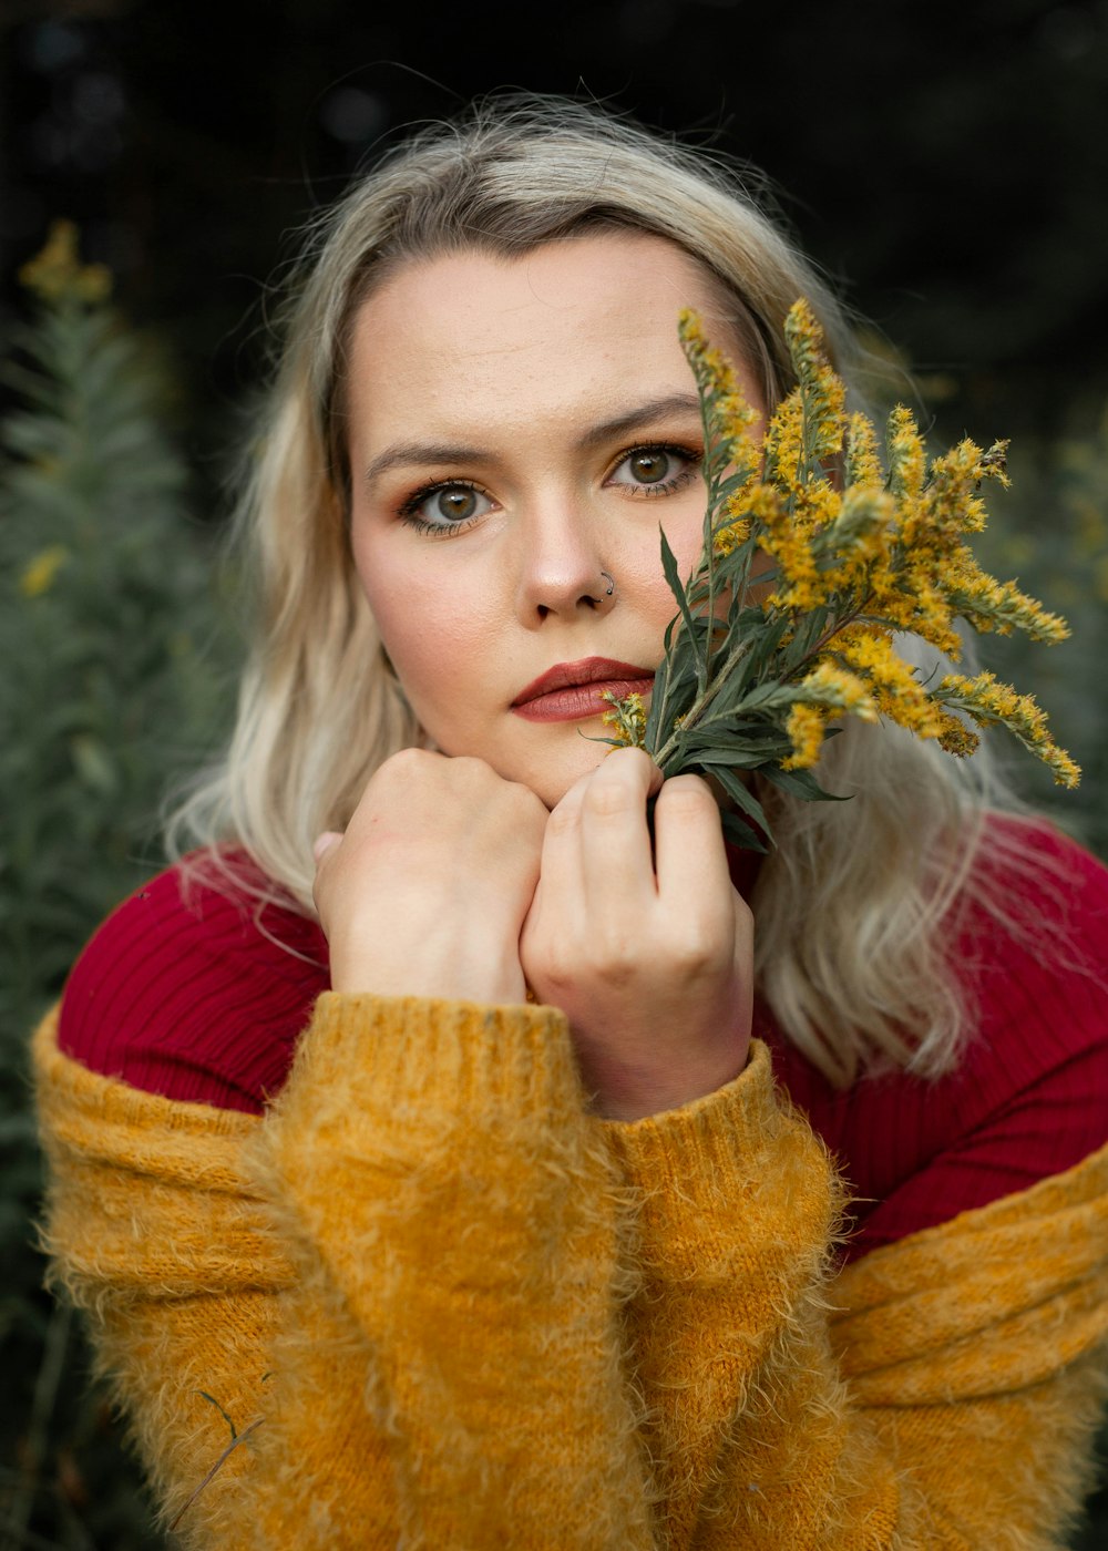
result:
<svg viewBox="0 0 1108 1551"><path fill-rule="evenodd" d="M348 1106L535 1115L583 1109L570 1031L551 1007L326 991L289 1084L341 1092Z"/></svg>

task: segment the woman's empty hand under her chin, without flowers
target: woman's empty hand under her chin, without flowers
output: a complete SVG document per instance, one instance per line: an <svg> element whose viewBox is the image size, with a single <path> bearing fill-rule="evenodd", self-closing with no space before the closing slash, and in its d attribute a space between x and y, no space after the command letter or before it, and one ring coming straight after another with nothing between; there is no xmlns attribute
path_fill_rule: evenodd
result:
<svg viewBox="0 0 1108 1551"><path fill-rule="evenodd" d="M523 1002L520 927L546 817L483 760L425 749L386 760L346 833L317 842L334 990Z"/></svg>

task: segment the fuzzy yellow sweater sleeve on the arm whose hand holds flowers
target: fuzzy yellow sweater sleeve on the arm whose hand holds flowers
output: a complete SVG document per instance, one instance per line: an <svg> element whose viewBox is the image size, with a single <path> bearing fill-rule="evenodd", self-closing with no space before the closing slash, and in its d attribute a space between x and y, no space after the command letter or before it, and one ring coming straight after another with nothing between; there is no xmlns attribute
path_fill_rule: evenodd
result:
<svg viewBox="0 0 1108 1551"><path fill-rule="evenodd" d="M1108 1149L836 1273L841 1188L763 1045L605 1131L638 1197L660 1543L1065 1545L1108 1388Z"/></svg>

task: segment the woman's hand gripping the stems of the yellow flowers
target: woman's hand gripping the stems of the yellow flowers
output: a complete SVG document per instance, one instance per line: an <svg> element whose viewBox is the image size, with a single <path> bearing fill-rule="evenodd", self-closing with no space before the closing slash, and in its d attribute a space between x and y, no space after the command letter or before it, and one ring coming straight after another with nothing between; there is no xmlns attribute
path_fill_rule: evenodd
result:
<svg viewBox="0 0 1108 1551"><path fill-rule="evenodd" d="M520 952L535 994L566 1013L601 1114L675 1109L743 1069L753 941L698 776L663 785L646 754L616 749L551 813Z"/></svg>

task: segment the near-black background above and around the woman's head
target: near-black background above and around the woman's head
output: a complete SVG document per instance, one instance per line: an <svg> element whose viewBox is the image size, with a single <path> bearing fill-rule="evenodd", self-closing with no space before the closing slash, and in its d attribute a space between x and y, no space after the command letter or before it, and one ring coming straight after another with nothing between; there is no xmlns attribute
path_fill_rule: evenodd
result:
<svg viewBox="0 0 1108 1551"><path fill-rule="evenodd" d="M475 93L577 93L763 168L944 431L1108 391L1108 3L0 0L0 275L81 223L211 470L293 230Z"/></svg>

